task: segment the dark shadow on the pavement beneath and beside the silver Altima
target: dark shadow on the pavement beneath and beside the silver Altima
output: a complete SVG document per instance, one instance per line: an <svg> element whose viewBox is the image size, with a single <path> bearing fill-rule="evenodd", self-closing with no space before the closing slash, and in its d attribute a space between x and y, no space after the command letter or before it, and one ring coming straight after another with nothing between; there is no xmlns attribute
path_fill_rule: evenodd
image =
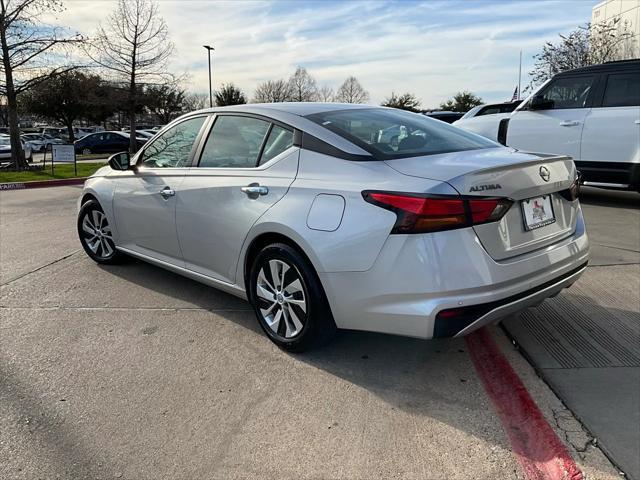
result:
<svg viewBox="0 0 640 480"><path fill-rule="evenodd" d="M419 340L342 330L327 345L305 353L287 353L271 346L244 300L139 260L99 268L144 288L153 285L154 290L179 302L259 333L260 341L272 348L274 355L287 355L365 389L390 410L428 416L489 444L510 448L500 427L490 426L499 425L497 417L495 422L486 421L492 407L462 339Z"/></svg>

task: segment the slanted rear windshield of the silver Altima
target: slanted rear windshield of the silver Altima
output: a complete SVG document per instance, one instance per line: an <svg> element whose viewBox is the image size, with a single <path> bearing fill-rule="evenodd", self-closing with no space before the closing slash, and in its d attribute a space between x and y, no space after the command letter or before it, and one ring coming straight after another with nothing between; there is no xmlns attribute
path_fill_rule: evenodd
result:
<svg viewBox="0 0 640 480"><path fill-rule="evenodd" d="M307 118L381 160L501 146L440 120L403 110L333 110Z"/></svg>

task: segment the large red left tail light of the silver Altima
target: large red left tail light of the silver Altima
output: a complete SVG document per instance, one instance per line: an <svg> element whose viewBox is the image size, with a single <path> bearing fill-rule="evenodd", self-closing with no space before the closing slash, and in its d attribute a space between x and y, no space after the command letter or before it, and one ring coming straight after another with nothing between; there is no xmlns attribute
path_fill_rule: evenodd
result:
<svg viewBox="0 0 640 480"><path fill-rule="evenodd" d="M500 220L511 207L505 198L462 198L391 192L362 192L364 199L395 212L391 233L427 233Z"/></svg>

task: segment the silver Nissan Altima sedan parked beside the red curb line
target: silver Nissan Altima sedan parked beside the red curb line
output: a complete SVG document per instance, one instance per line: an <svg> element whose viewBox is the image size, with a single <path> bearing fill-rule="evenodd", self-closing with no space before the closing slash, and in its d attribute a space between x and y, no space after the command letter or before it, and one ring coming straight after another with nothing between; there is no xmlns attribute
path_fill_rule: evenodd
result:
<svg viewBox="0 0 640 480"><path fill-rule="evenodd" d="M78 232L99 263L131 255L249 300L300 351L336 328L465 335L556 295L587 265L578 194L570 158L424 115L253 104L114 155Z"/></svg>

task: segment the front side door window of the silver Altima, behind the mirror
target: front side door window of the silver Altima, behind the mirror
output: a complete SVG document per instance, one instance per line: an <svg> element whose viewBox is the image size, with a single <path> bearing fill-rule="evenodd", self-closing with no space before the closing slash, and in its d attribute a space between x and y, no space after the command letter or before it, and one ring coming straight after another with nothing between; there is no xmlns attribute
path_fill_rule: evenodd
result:
<svg viewBox="0 0 640 480"><path fill-rule="evenodd" d="M144 152L140 163L148 168L180 168L187 166L193 144L206 117L195 117L174 125L157 137Z"/></svg>

